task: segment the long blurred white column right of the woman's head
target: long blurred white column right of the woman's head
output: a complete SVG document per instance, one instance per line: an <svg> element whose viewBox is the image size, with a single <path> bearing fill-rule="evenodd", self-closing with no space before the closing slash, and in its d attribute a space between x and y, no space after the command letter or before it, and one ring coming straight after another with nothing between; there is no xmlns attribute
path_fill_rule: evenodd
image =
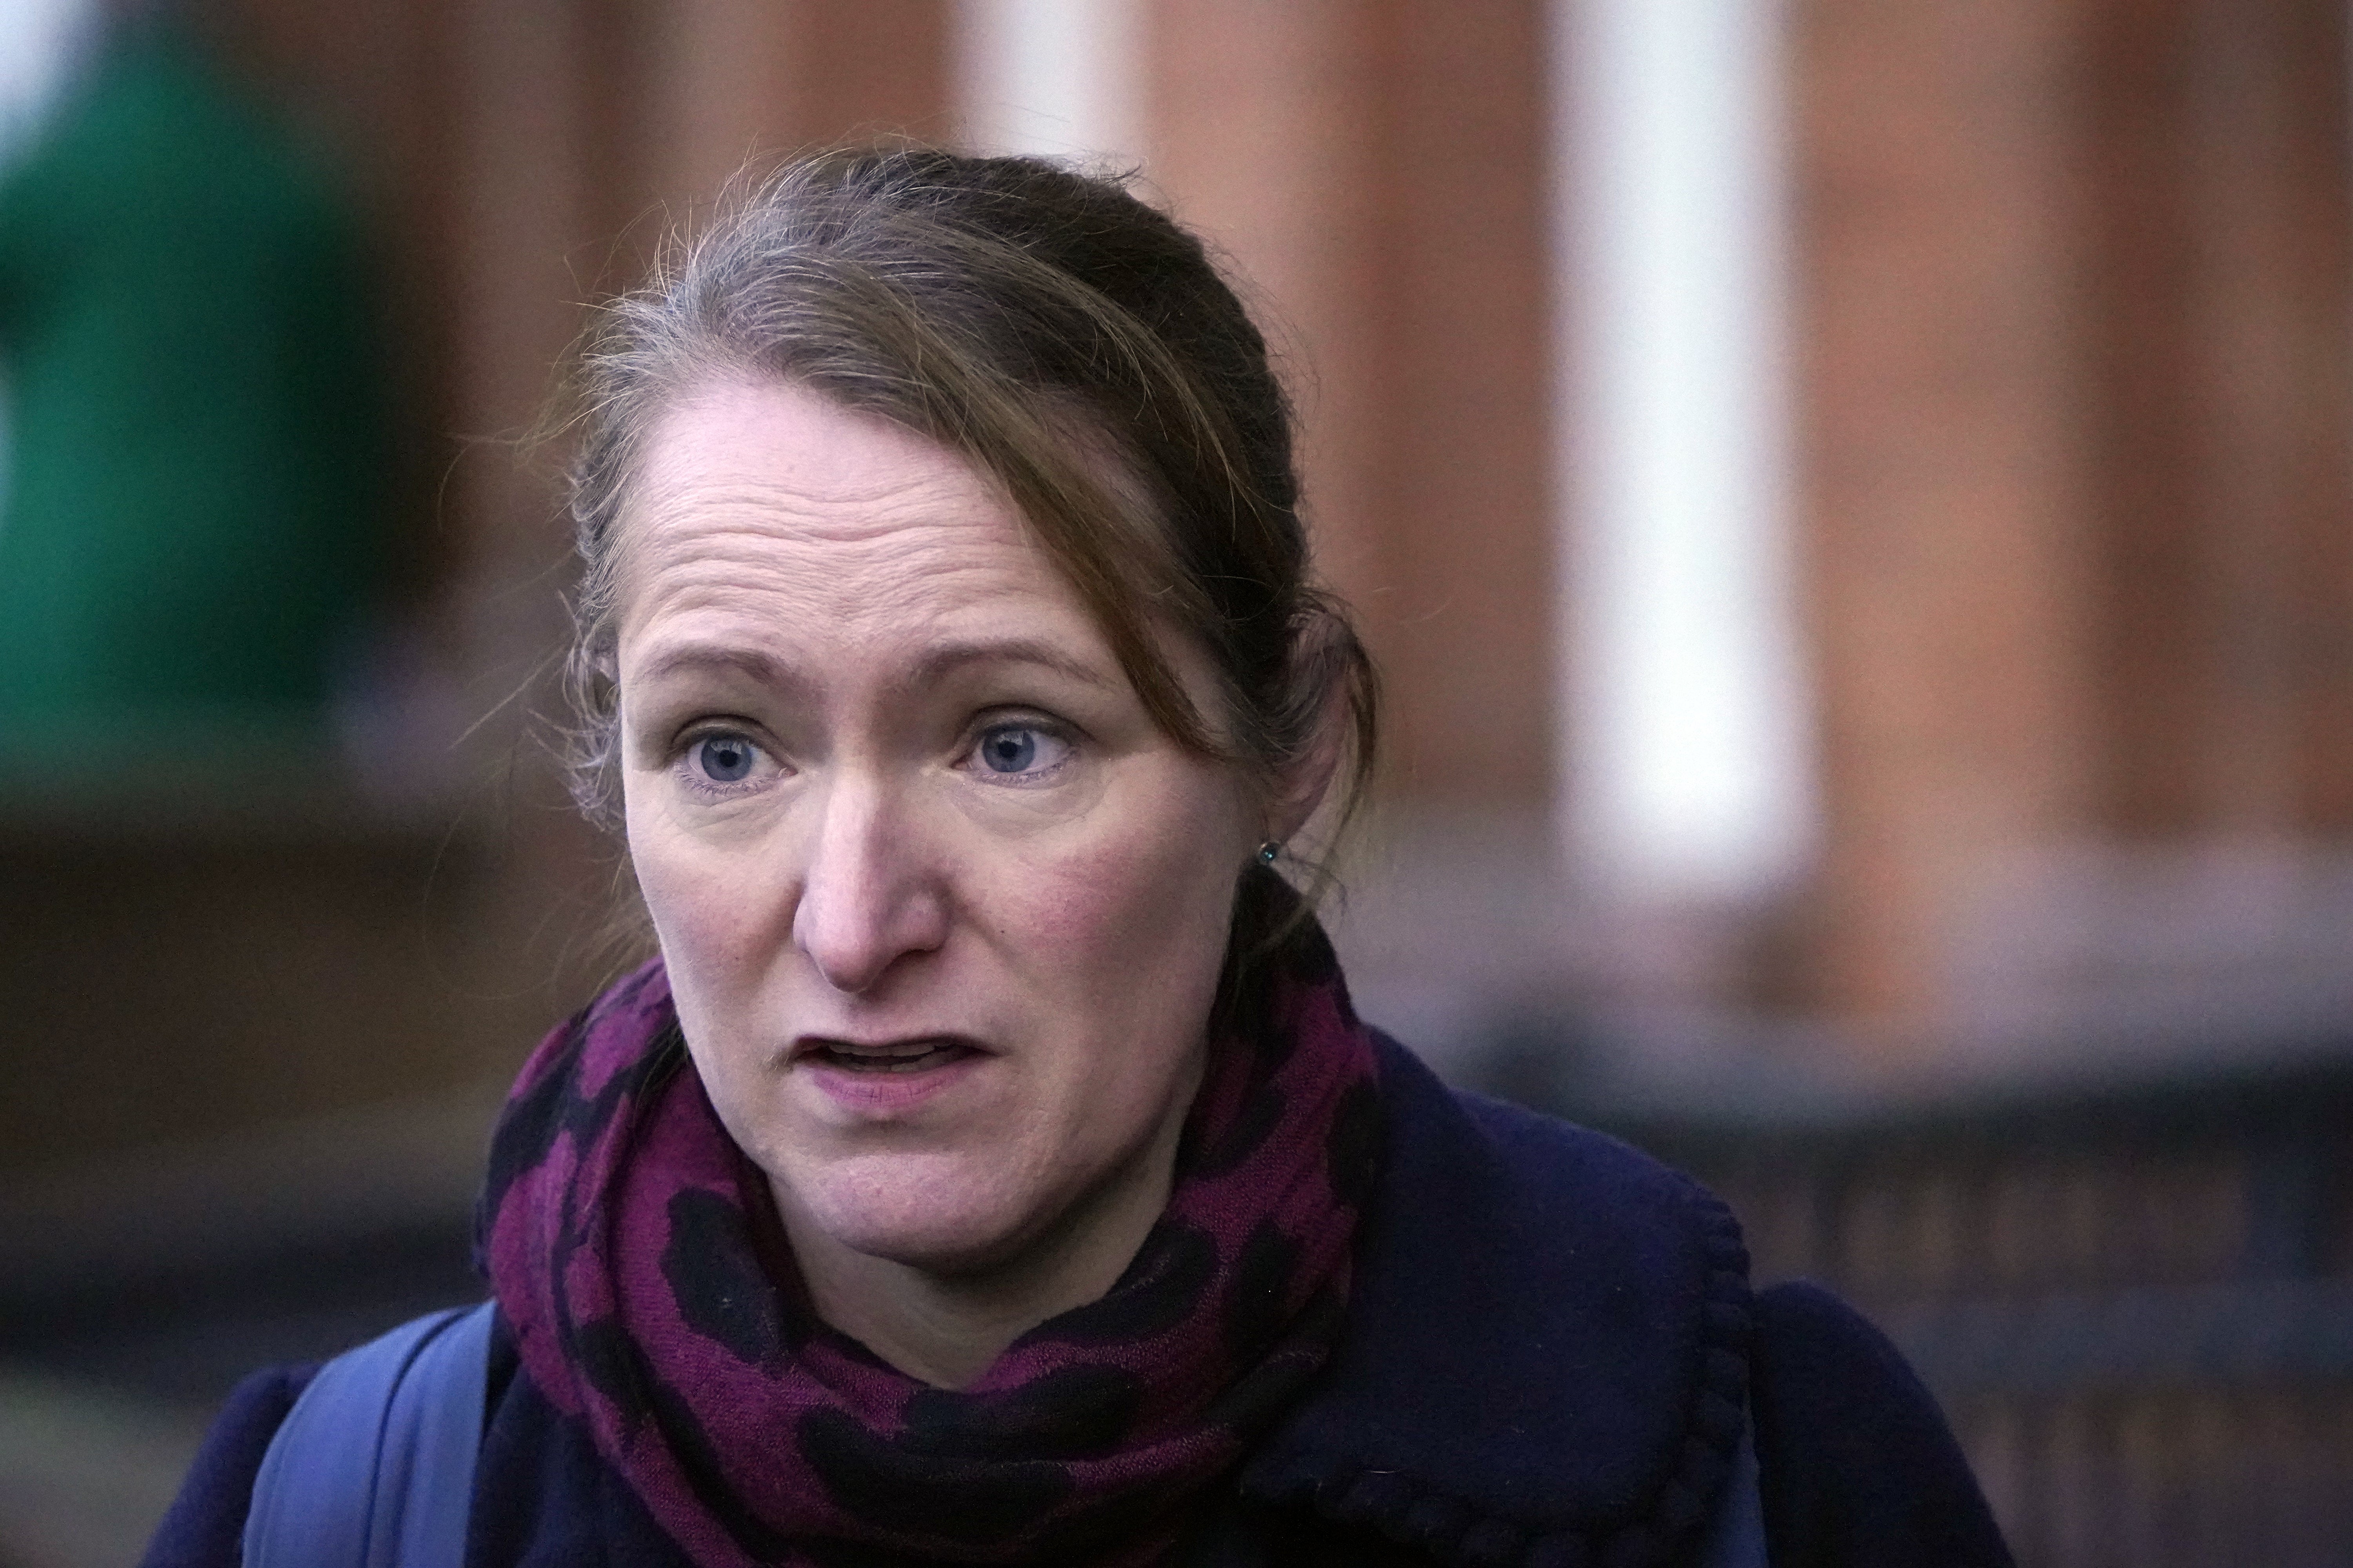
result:
<svg viewBox="0 0 2353 1568"><path fill-rule="evenodd" d="M1562 832L1638 898L1809 842L1788 501L1781 16L1555 0Z"/></svg>

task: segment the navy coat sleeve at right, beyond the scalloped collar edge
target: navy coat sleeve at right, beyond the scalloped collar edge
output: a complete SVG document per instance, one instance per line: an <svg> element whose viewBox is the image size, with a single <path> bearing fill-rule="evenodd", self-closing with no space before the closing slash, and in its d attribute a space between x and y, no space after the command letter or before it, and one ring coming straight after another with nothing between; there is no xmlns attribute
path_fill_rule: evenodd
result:
<svg viewBox="0 0 2353 1568"><path fill-rule="evenodd" d="M1937 1399L1821 1286L1755 1302L1755 1425L1774 1561L2007 1568Z"/></svg>

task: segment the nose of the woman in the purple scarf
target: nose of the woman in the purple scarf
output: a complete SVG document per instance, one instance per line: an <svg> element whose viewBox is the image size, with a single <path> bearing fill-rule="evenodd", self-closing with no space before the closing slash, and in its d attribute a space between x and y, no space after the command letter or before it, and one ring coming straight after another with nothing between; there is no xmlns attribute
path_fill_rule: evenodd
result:
<svg viewBox="0 0 2353 1568"><path fill-rule="evenodd" d="M864 994L946 936L948 900L913 825L889 809L882 790L838 780L814 823L793 945L826 985Z"/></svg>

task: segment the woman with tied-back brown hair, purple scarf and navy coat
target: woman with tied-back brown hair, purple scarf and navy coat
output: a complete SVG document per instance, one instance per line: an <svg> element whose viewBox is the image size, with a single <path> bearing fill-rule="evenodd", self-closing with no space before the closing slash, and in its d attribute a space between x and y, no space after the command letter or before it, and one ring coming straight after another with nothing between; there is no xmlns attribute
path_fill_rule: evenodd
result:
<svg viewBox="0 0 2353 1568"><path fill-rule="evenodd" d="M661 959L494 1140L468 1563L1682 1563L1741 1497L1777 1563L2007 1561L1852 1312L1358 1023L1280 867L1372 670L1191 235L809 160L581 407L581 797ZM235 1561L299 1382L151 1563Z"/></svg>

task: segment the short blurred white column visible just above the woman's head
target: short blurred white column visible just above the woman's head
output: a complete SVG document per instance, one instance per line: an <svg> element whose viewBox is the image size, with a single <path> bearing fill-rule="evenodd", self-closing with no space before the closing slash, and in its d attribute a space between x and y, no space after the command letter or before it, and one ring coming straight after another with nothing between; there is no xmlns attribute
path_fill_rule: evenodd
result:
<svg viewBox="0 0 2353 1568"><path fill-rule="evenodd" d="M1144 0L955 0L953 92L976 153L1141 162Z"/></svg>

